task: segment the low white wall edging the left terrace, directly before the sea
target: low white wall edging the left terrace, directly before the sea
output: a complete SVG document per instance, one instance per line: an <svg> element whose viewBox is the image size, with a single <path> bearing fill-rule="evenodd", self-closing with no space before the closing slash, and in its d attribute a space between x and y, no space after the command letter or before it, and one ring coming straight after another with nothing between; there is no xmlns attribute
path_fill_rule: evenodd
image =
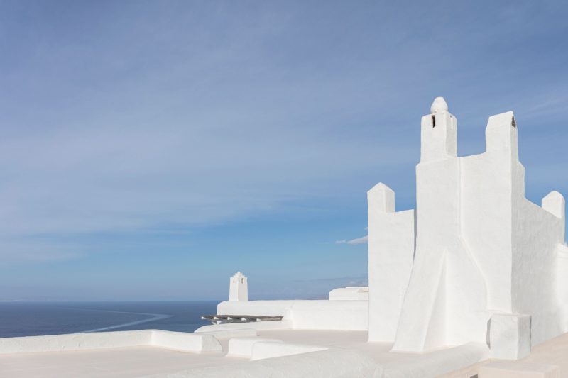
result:
<svg viewBox="0 0 568 378"><path fill-rule="evenodd" d="M222 352L221 344L212 335L166 330L124 330L0 338L0 354L124 348L138 345L152 345L183 352Z"/></svg>

